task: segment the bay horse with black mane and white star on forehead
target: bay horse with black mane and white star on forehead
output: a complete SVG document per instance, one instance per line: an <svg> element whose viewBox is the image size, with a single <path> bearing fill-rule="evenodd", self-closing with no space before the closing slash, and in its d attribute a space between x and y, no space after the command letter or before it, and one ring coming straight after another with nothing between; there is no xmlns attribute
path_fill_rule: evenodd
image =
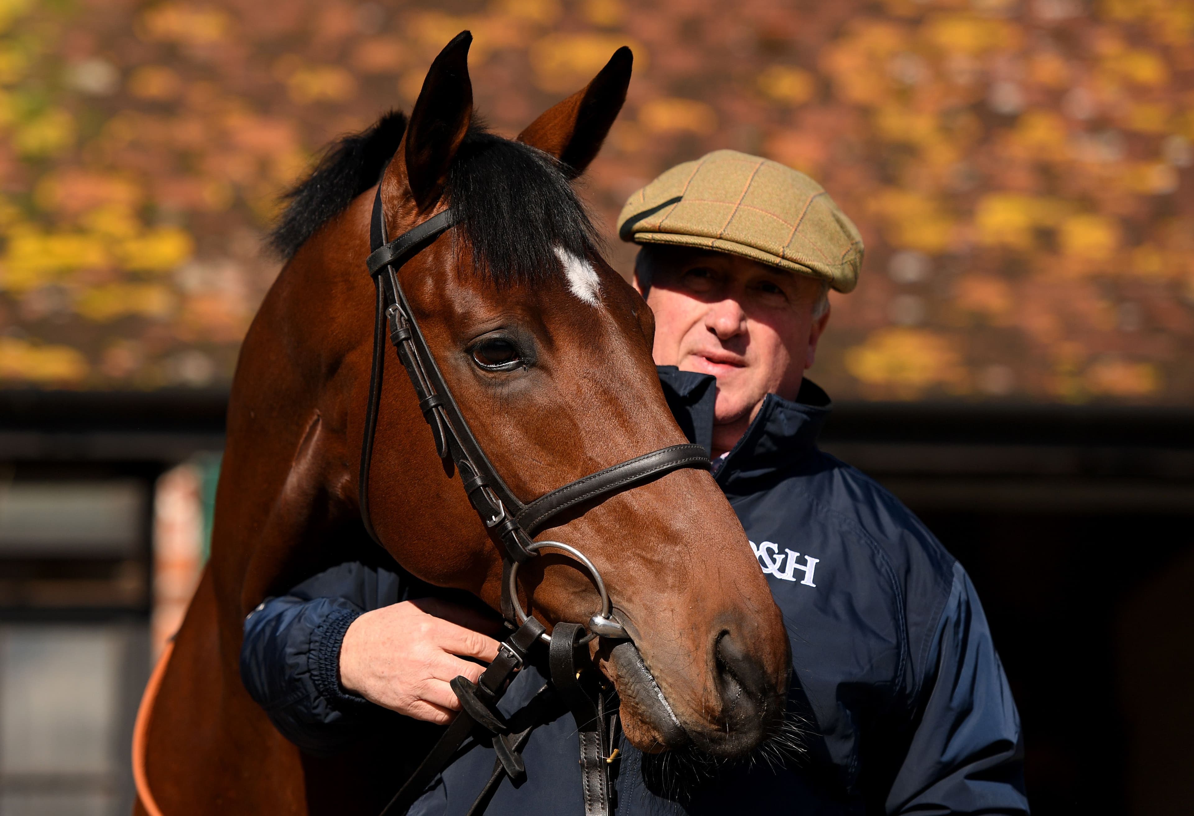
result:
<svg viewBox="0 0 1194 816"><path fill-rule="evenodd" d="M494 533L389 355L381 364L396 373L382 379L368 496L359 492L375 198L389 235L449 204L457 219L401 268L401 286L515 495L530 501L688 442L651 358L651 311L602 258L572 185L626 99L629 50L507 140L473 113L470 42L462 32L444 48L408 119L392 112L325 154L273 233L287 260L238 361L211 557L139 717L135 814L374 816L426 751L436 729L396 714L384 737L331 757L283 738L239 675L244 620L263 599L361 559L499 608ZM363 499L381 546L362 523ZM635 747L734 757L774 731L788 638L708 471L675 470L549 524L604 576L630 634L629 650L604 637L589 648ZM597 606L590 577L558 556L523 565L519 596L548 630L587 621Z"/></svg>

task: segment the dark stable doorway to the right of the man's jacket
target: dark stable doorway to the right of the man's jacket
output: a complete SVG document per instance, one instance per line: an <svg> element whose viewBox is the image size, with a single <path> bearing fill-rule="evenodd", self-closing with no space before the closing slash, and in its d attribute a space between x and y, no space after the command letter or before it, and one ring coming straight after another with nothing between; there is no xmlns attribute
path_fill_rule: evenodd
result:
<svg viewBox="0 0 1194 816"><path fill-rule="evenodd" d="M1033 814L1188 814L1194 516L918 515L983 600L1023 723Z"/></svg>

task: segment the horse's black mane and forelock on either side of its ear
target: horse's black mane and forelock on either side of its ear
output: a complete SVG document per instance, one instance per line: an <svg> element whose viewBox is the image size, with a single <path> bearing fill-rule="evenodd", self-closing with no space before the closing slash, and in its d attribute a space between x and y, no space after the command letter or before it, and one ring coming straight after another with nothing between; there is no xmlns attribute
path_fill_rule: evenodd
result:
<svg viewBox="0 0 1194 816"><path fill-rule="evenodd" d="M328 219L381 177L406 129L400 112L328 148L312 174L287 194L270 245L289 259ZM585 207L559 161L474 125L464 136L444 188L472 245L474 263L499 283L555 274L555 249L578 257L598 245Z"/></svg>

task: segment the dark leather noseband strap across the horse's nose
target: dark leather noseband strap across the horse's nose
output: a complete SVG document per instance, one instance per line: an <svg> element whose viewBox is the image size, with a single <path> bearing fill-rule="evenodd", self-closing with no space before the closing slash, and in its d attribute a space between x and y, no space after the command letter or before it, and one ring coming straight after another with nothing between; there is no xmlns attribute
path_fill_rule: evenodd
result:
<svg viewBox="0 0 1194 816"><path fill-rule="evenodd" d="M652 450L540 496L518 514L517 520L524 530L534 535L547 526L552 516L571 507L635 487L682 467L708 470L709 455L700 444L673 444Z"/></svg>

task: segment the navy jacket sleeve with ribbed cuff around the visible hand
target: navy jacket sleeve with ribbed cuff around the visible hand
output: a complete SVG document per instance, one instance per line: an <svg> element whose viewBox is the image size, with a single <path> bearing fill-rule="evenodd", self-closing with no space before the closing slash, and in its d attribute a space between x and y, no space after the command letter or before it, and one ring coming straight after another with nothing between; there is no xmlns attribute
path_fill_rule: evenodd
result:
<svg viewBox="0 0 1194 816"><path fill-rule="evenodd" d="M266 599L245 619L240 676L273 725L303 750L330 754L384 713L340 686L340 643L361 614L396 603L402 579L353 562Z"/></svg>

